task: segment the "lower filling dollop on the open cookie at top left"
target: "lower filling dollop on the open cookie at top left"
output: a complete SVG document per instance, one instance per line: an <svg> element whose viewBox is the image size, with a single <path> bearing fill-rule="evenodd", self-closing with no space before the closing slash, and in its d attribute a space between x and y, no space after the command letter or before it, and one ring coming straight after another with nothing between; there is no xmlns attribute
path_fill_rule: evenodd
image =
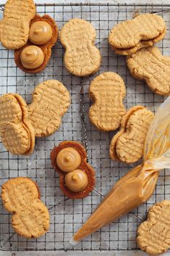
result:
<svg viewBox="0 0 170 256"><path fill-rule="evenodd" d="M34 70L43 64L44 54L38 46L27 46L22 50L20 59L24 67Z"/></svg>

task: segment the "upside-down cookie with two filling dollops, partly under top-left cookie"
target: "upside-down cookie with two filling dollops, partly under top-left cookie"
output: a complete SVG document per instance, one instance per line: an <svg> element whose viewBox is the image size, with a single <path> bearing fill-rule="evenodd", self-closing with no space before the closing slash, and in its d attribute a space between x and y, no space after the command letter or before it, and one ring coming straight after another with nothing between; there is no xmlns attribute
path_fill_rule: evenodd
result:
<svg viewBox="0 0 170 256"><path fill-rule="evenodd" d="M27 44L14 51L14 61L25 73L38 73L44 70L51 58L51 48L58 40L56 22L48 16L35 15L30 22Z"/></svg>

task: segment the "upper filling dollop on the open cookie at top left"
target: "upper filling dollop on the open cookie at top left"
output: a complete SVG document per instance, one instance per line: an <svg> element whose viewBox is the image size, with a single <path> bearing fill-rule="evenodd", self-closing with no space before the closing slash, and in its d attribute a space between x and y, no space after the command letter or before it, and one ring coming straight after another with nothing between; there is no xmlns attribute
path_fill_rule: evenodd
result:
<svg viewBox="0 0 170 256"><path fill-rule="evenodd" d="M33 44L42 45L48 43L53 30L46 21L37 21L30 26L29 40Z"/></svg>

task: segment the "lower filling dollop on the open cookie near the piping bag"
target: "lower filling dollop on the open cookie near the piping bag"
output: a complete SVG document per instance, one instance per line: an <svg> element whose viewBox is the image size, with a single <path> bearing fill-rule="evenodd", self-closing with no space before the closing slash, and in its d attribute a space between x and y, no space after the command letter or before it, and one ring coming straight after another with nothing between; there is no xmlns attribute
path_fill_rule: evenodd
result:
<svg viewBox="0 0 170 256"><path fill-rule="evenodd" d="M88 186L88 176L83 170L72 170L65 176L65 183L69 190L80 192Z"/></svg>

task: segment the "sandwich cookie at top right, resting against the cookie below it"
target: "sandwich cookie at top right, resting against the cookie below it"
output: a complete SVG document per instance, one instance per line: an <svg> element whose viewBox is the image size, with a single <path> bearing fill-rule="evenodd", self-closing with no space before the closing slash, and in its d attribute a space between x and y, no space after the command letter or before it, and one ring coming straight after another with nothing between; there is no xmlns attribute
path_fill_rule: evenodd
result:
<svg viewBox="0 0 170 256"><path fill-rule="evenodd" d="M166 24L162 17L155 14L137 15L111 29L109 44L116 53L127 55L143 47L153 46L165 34Z"/></svg>

